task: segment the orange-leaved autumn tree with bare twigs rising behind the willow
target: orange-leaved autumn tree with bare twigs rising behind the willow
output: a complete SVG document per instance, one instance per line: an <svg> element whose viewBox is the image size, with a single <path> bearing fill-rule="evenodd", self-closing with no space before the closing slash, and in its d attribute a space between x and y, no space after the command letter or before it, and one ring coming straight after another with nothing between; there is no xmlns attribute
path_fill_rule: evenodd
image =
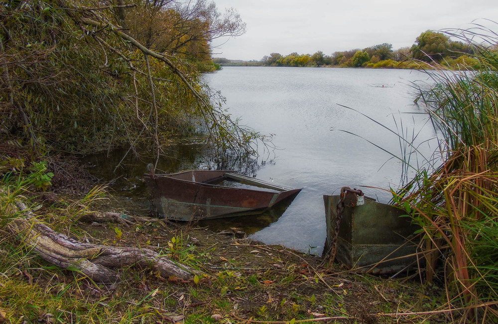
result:
<svg viewBox="0 0 498 324"><path fill-rule="evenodd" d="M131 36L161 53L210 60L213 40L245 33L239 13L230 8L222 14L213 1L135 0L135 4L116 10L116 19Z"/></svg>

